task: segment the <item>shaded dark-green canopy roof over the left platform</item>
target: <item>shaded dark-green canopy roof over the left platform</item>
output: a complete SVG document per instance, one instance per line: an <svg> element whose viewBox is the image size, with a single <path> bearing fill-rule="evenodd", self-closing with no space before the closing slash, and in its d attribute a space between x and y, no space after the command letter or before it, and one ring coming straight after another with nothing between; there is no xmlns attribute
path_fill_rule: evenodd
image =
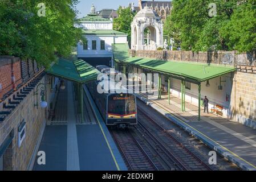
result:
<svg viewBox="0 0 256 182"><path fill-rule="evenodd" d="M56 77L78 82L79 84L97 80L97 75L100 73L96 68L82 59L76 61L59 59L46 72Z"/></svg>

